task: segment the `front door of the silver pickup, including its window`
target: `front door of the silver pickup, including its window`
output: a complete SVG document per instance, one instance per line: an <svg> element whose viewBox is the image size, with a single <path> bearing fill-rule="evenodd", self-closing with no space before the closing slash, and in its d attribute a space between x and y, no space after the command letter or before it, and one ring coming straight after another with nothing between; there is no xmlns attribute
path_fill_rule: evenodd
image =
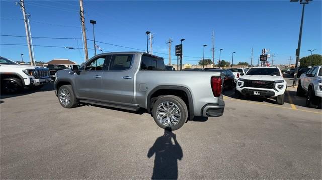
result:
<svg viewBox="0 0 322 180"><path fill-rule="evenodd" d="M102 75L106 67L106 55L96 57L84 65L79 74L75 74L77 95L85 99L102 97Z"/></svg>

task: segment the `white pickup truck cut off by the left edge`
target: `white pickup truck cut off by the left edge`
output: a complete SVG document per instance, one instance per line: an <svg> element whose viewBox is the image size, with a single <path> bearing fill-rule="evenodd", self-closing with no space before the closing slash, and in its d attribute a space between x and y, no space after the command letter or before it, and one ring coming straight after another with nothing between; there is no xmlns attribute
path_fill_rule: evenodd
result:
<svg viewBox="0 0 322 180"><path fill-rule="evenodd" d="M51 81L49 69L20 65L0 56L1 91L17 93L24 87L38 87Z"/></svg>

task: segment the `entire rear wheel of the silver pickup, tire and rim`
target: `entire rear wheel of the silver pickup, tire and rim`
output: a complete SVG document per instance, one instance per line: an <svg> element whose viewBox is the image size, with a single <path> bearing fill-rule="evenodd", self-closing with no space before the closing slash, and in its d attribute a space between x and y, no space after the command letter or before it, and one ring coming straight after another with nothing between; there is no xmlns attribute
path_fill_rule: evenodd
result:
<svg viewBox="0 0 322 180"><path fill-rule="evenodd" d="M177 96L168 95L156 100L153 105L153 118L161 128L177 130L188 118L188 108L185 102Z"/></svg>

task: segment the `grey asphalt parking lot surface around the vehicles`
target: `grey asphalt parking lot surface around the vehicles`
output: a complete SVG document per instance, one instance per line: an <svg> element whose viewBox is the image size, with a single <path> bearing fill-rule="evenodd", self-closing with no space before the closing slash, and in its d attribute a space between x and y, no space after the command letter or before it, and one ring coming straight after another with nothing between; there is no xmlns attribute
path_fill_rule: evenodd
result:
<svg viewBox="0 0 322 180"><path fill-rule="evenodd" d="M321 179L322 111L224 92L225 112L165 132L142 112L60 106L52 85L2 96L1 179Z"/></svg>

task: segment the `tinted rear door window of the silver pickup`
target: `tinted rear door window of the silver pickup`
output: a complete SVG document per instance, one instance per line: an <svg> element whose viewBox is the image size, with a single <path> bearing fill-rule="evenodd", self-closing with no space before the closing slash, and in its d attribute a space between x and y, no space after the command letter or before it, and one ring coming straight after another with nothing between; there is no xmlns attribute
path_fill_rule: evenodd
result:
<svg viewBox="0 0 322 180"><path fill-rule="evenodd" d="M133 55L131 54L118 54L113 55L109 71L123 71L131 68Z"/></svg>

